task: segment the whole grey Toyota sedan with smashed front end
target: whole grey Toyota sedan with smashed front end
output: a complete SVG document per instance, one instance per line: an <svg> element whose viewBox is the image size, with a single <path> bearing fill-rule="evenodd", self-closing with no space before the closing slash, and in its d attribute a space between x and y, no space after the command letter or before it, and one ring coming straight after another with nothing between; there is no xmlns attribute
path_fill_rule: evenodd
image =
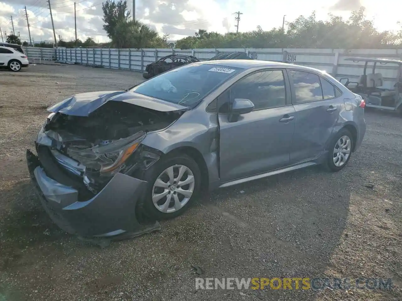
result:
<svg viewBox="0 0 402 301"><path fill-rule="evenodd" d="M363 103L312 68L193 63L51 106L27 163L67 232L146 231L138 220L174 218L200 191L316 164L342 169L365 134Z"/></svg>

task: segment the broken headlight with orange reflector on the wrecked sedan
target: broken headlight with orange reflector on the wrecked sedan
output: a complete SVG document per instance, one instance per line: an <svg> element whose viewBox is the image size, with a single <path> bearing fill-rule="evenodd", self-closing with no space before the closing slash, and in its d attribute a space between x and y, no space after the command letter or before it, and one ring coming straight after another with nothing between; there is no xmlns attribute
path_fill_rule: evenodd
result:
<svg viewBox="0 0 402 301"><path fill-rule="evenodd" d="M98 170L100 174L113 175L125 167L125 161L135 152L145 132L138 132L127 138L114 141L103 141L92 147L73 146L67 149L67 154L78 162Z"/></svg>

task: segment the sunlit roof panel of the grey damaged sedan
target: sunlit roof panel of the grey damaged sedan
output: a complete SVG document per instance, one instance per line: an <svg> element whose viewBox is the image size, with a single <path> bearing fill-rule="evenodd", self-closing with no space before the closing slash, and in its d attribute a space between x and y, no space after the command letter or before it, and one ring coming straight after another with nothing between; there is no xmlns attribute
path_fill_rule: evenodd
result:
<svg viewBox="0 0 402 301"><path fill-rule="evenodd" d="M232 68L289 68L289 69L299 69L305 71L320 71L322 70L316 68L310 68L301 65L293 65L288 63L281 63L275 61L260 61L256 59L221 59L216 61L202 61L195 64L205 64L205 65L217 65L222 67L232 67Z"/></svg>

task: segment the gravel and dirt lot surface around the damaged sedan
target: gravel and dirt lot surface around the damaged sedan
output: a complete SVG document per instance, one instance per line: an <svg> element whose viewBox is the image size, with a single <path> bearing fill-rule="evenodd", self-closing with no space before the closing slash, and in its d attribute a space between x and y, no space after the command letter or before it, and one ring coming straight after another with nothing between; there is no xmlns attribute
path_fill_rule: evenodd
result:
<svg viewBox="0 0 402 301"><path fill-rule="evenodd" d="M107 248L59 230L25 162L45 108L139 81L72 65L0 71L1 301L402 299L402 118L378 111L366 112L363 145L339 173L313 167L221 189L161 231ZM197 291L192 266L217 278L392 277L392 290Z"/></svg>

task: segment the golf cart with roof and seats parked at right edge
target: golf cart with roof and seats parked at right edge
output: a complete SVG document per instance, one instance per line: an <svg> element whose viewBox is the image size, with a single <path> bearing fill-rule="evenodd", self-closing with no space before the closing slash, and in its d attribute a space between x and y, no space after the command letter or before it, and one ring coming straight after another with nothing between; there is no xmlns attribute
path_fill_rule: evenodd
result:
<svg viewBox="0 0 402 301"><path fill-rule="evenodd" d="M402 113L402 61L392 59L375 59L368 57L347 57L345 61L365 62L363 75L357 82L341 78L339 81L353 93L359 94L366 102L366 107L399 111ZM367 73L368 63L373 63L371 73ZM375 73L375 67L381 65L397 65L398 75L392 89L380 88L384 85L381 73ZM344 83L345 82L345 83Z"/></svg>

